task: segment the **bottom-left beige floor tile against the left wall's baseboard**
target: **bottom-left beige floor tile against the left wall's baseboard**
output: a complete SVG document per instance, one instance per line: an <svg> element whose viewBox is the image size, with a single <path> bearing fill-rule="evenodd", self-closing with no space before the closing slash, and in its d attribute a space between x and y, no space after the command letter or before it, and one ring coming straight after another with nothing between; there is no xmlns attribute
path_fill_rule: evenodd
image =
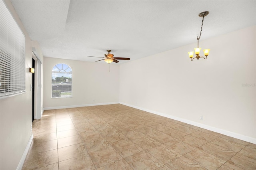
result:
<svg viewBox="0 0 256 170"><path fill-rule="evenodd" d="M54 163L58 163L57 149L28 155L22 169L34 170Z"/></svg>

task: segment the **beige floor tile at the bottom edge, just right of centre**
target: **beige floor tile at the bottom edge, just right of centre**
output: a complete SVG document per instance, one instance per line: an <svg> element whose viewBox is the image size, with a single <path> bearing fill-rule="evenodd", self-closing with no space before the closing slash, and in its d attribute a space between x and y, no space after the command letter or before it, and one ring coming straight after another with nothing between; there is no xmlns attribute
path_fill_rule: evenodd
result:
<svg viewBox="0 0 256 170"><path fill-rule="evenodd" d="M146 151L128 156L124 159L135 170L154 170L164 165Z"/></svg>

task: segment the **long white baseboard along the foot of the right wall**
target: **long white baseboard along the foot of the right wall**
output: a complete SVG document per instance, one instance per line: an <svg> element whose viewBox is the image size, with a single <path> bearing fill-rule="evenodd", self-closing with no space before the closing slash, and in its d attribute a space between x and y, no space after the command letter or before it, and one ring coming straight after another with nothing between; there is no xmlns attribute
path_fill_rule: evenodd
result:
<svg viewBox="0 0 256 170"><path fill-rule="evenodd" d="M142 107L137 107L137 106L130 105L130 104L127 104L127 103L120 102L120 104L129 106L129 107L133 107L135 109L139 109L139 110L142 110L142 111L146 111L146 112L149 112L149 113L153 113L153 114L156 114L156 115L160 115L160 116L163 116L163 117L168 117L168 118L174 119L176 121L180 121L180 122L183 122L183 123L194 125L196 127L204 128L204 129L207 129L207 130L211 130L213 132L217 132L217 133L220 133L220 134L224 134L224 135L227 135L227 136L230 136L230 137L233 137L233 138L237 138L237 139L240 139L240 140L244 140L246 142L250 142L250 143L256 144L256 138L252 138L252 137L249 137L249 136L244 136L242 134L230 132L228 130L223 130L223 129L216 128L216 127L211 127L211 126L204 125L204 124L201 124L201 123L198 123L198 122L194 122L194 121L190 121L190 120L187 120L187 119L182 119L182 118L179 118L179 117L174 117L174 116L171 116L171 115L167 115L165 113L151 111L149 109L144 109Z"/></svg>

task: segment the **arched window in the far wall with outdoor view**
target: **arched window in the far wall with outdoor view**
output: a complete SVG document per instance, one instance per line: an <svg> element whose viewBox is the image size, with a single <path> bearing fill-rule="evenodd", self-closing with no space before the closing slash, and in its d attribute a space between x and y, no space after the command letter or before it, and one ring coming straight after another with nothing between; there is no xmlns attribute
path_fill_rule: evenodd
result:
<svg viewBox="0 0 256 170"><path fill-rule="evenodd" d="M72 97L72 69L63 63L52 68L52 98Z"/></svg>

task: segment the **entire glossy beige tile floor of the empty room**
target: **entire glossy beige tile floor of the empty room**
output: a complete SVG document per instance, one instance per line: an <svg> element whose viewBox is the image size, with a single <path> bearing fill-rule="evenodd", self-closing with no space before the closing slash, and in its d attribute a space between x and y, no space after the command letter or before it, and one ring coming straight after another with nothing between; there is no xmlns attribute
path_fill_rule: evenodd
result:
<svg viewBox="0 0 256 170"><path fill-rule="evenodd" d="M23 170L255 170L256 145L124 105L44 111Z"/></svg>

